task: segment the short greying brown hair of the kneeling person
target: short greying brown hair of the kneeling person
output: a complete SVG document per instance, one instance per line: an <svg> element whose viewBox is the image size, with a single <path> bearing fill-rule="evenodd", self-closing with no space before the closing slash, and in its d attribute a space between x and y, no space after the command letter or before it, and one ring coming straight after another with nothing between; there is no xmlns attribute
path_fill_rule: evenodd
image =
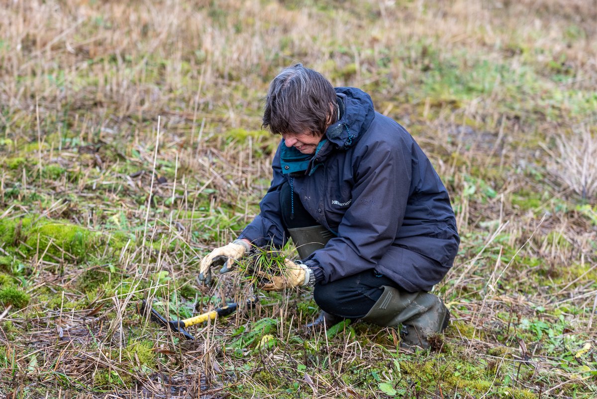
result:
<svg viewBox="0 0 597 399"><path fill-rule="evenodd" d="M302 64L282 70L269 85L263 125L274 134L325 133L330 112L336 111L336 91L321 73Z"/></svg>

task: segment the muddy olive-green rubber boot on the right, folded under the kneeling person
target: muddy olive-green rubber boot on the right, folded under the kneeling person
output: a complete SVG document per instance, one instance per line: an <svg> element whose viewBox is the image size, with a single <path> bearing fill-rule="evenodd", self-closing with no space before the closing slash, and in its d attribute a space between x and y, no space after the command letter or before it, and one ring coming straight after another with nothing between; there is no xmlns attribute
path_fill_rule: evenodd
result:
<svg viewBox="0 0 597 399"><path fill-rule="evenodd" d="M441 333L450 322L450 311L439 297L425 291L406 292L383 286L384 291L362 320L382 327L405 327L401 346L430 346L429 337Z"/></svg>

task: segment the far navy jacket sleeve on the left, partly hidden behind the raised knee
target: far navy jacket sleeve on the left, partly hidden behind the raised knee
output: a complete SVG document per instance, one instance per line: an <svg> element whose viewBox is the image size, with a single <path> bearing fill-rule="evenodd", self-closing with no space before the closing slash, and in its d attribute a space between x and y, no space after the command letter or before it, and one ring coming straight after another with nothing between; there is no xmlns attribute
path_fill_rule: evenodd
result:
<svg viewBox="0 0 597 399"><path fill-rule="evenodd" d="M285 181L280 165L280 146L272 161L273 178L266 195L259 202L260 214L249 223L238 238L246 238L257 247L274 245L281 248L288 241L280 210L280 189Z"/></svg>

